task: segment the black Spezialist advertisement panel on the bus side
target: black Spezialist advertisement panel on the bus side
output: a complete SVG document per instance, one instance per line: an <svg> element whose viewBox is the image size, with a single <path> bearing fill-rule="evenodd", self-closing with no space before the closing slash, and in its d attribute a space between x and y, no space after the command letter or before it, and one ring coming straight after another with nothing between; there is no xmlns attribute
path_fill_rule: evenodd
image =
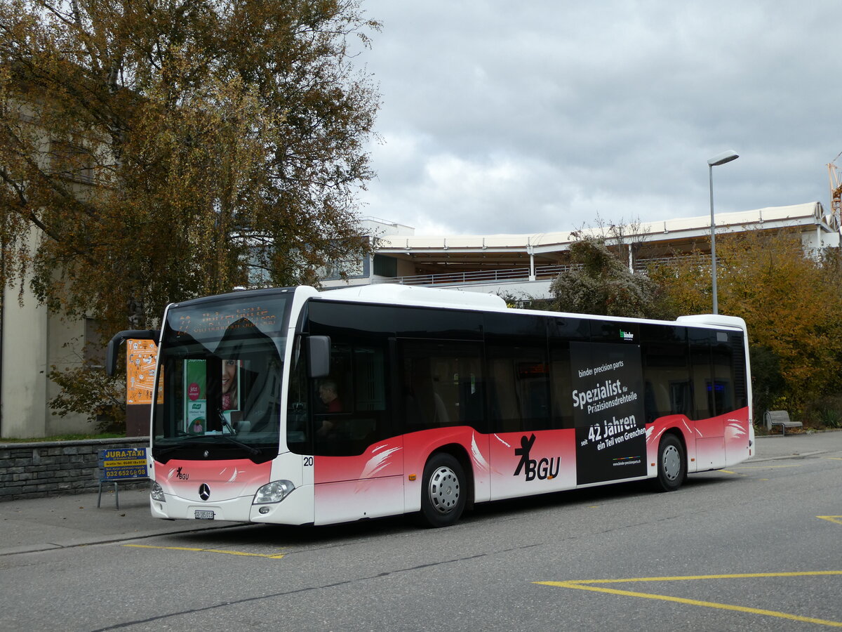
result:
<svg viewBox="0 0 842 632"><path fill-rule="evenodd" d="M570 343L576 482L647 474L640 345Z"/></svg>

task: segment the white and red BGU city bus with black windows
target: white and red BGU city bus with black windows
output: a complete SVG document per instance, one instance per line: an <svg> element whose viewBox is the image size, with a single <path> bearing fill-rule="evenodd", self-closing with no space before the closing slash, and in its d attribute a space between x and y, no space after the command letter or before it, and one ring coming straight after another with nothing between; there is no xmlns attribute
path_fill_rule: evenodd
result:
<svg viewBox="0 0 842 632"><path fill-rule="evenodd" d="M742 319L507 308L397 285L168 306L152 515L329 524L688 473L753 453Z"/></svg>

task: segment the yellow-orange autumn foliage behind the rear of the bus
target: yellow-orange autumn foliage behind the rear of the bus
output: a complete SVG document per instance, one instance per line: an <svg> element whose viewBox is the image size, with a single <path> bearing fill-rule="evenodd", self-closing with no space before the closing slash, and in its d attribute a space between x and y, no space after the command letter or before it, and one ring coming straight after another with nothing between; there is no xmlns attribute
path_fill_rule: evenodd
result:
<svg viewBox="0 0 842 632"><path fill-rule="evenodd" d="M679 313L711 311L710 261L682 257L650 271ZM720 313L749 328L757 414L842 393L839 249L805 251L791 234L717 238Z"/></svg>

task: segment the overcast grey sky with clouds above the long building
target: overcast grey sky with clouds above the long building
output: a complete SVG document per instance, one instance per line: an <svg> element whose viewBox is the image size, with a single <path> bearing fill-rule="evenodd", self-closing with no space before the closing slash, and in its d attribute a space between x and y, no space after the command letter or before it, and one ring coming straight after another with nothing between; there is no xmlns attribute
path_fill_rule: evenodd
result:
<svg viewBox="0 0 842 632"><path fill-rule="evenodd" d="M379 85L360 214L544 233L821 201L839 0L364 0ZM837 161L842 166L842 158Z"/></svg>

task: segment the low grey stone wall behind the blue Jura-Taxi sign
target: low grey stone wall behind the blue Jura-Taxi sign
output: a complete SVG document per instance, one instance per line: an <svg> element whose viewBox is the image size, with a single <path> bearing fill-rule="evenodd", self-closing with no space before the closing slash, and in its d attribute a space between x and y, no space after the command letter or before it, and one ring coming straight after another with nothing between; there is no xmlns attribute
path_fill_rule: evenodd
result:
<svg viewBox="0 0 842 632"><path fill-rule="evenodd" d="M0 501L81 494L99 490L99 451L147 447L149 437L89 441L0 443ZM147 479L120 481L120 488L149 485Z"/></svg>

